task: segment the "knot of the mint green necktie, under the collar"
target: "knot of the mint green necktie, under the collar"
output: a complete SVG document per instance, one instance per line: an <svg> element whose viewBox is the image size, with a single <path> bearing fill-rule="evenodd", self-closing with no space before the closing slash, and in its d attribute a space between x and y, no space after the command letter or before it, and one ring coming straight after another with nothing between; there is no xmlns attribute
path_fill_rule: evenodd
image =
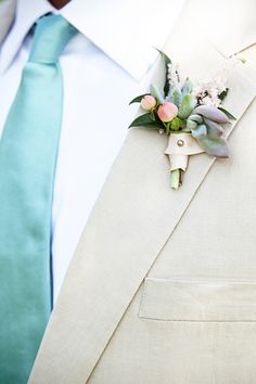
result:
<svg viewBox="0 0 256 384"><path fill-rule="evenodd" d="M38 20L33 39L30 62L56 63L62 51L77 29L61 15L47 15Z"/></svg>

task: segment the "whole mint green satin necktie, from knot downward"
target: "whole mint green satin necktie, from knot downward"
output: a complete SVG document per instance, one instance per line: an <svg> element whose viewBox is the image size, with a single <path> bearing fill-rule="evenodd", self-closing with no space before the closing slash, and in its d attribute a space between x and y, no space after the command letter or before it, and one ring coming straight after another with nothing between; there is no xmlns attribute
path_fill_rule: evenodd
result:
<svg viewBox="0 0 256 384"><path fill-rule="evenodd" d="M51 207L62 123L59 56L76 34L37 23L0 141L0 383L27 382L51 312Z"/></svg>

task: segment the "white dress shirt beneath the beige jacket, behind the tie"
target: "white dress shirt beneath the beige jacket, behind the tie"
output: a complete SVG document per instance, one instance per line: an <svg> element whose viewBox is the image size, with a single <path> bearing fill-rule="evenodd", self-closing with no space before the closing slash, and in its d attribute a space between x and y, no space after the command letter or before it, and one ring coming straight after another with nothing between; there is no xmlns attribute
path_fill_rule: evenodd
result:
<svg viewBox="0 0 256 384"><path fill-rule="evenodd" d="M80 31L61 56L63 126L52 208L54 302L104 180L135 117L129 101L149 89L181 0L18 0L0 53L0 135L28 57L35 21L60 12ZM100 240L99 240L100 241Z"/></svg>

